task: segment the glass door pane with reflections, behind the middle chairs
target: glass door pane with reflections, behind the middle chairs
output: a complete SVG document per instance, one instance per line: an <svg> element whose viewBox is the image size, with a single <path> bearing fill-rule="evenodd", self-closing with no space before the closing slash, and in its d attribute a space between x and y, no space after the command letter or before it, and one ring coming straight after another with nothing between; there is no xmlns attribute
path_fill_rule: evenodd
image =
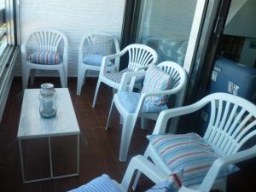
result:
<svg viewBox="0 0 256 192"><path fill-rule="evenodd" d="M183 65L196 3L196 0L144 1L137 43L155 49L159 61Z"/></svg>

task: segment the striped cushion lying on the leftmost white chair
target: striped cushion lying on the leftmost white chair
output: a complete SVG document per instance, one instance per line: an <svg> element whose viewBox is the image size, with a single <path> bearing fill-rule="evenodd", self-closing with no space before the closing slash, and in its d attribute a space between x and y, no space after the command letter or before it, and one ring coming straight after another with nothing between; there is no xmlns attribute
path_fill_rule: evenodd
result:
<svg viewBox="0 0 256 192"><path fill-rule="evenodd" d="M27 59L32 63L43 65L55 65L61 63L61 55L55 51L41 50L28 55Z"/></svg>

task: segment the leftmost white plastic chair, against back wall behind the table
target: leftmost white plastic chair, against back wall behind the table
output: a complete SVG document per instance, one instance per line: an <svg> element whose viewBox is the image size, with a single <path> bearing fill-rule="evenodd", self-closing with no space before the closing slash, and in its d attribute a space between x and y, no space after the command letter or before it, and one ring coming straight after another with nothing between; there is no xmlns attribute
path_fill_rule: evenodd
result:
<svg viewBox="0 0 256 192"><path fill-rule="evenodd" d="M62 41L62 45L61 45ZM32 53L37 47L38 51L59 51L63 55L61 63L55 65L41 65L27 60L28 53ZM31 84L34 80L34 70L56 70L60 74L61 86L67 87L67 47L68 41L64 33L53 29L40 29L32 32L28 38L21 44L22 59L22 83L23 89L26 89L29 75L31 73Z"/></svg>

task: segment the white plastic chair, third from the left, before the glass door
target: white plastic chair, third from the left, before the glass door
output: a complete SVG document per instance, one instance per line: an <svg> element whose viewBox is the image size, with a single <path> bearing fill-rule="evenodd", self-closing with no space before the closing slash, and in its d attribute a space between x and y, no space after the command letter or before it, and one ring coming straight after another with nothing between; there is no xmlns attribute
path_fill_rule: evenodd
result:
<svg viewBox="0 0 256 192"><path fill-rule="evenodd" d="M108 61L116 58L120 58L122 55L125 55L125 53L127 52L129 54L127 70L130 72L138 72L141 70L145 70L149 65L154 65L157 61L157 53L154 51L154 49L143 44L130 44L117 54L104 56L102 59L102 67L101 67L99 79L96 85L95 95L93 98L93 103L92 103L93 108L95 108L96 97L98 95L98 91L102 82L105 84L108 84L108 86L110 87L113 87L113 89L116 89L116 90L120 89L121 82L123 81L123 77L116 81L109 78ZM119 72L119 64L118 65L115 64L114 68L115 68L115 73ZM123 74L125 73L125 71L123 70L123 73L122 72L119 72L119 73Z"/></svg>

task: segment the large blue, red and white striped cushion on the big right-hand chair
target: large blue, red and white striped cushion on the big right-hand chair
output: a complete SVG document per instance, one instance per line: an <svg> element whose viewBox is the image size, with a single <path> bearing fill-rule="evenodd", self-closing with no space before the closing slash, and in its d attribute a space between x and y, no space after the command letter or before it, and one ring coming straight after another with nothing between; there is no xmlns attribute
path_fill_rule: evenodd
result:
<svg viewBox="0 0 256 192"><path fill-rule="evenodd" d="M152 135L148 136L148 140L169 166L170 172L183 170L185 186L201 183L214 160L219 157L207 141L195 133ZM227 176L237 170L233 165L224 167L218 177Z"/></svg>

